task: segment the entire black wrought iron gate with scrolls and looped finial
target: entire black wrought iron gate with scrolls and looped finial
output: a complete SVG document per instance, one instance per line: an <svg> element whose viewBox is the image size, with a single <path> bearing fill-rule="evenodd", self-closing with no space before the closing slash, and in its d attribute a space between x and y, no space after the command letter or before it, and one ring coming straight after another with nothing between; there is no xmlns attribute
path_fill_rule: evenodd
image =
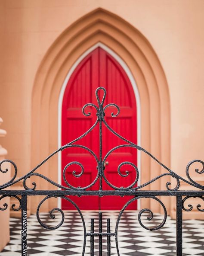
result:
<svg viewBox="0 0 204 256"><path fill-rule="evenodd" d="M103 91L103 98L102 101L100 101L99 99L99 90ZM164 210L164 218L163 221L161 222L161 224L159 224L156 227L147 227L142 223L141 220L141 216L144 212L147 212L149 214L149 216L147 217L148 221L151 221L151 219L153 218L153 212L148 209L148 208L144 208L142 210L139 211L138 213L138 221L139 224L145 228L146 230L158 230L161 227L164 226L166 219L167 219L167 210L165 208L165 205L163 204L163 202L161 201L160 198L158 198L158 196L173 196L176 197L176 255L177 256L182 256L182 210L184 211L191 211L193 206L192 205L188 205L188 208L185 208L184 206L184 202L186 200L188 200L189 198L195 198L195 197L199 197L202 200L204 200L204 186L201 186L200 184L198 184L197 182L195 182L190 174L189 174L189 168L193 163L201 163L202 165L202 170L198 170L195 169L196 173L204 173L204 162L201 160L193 160L191 161L187 167L186 167L186 176L188 178L184 179L181 176L177 175L176 173L174 173L172 170L170 170L169 168L167 168L163 163L160 163L154 156L152 156L148 151L146 151L145 149L143 149L142 147L132 143L131 141L123 138L121 135L117 134L117 132L113 131L112 128L108 125L108 123L105 120L105 110L112 106L115 107L117 110L117 113L111 113L112 117L116 117L117 115L119 115L120 109L119 107L114 104L114 103L110 103L106 106L104 105L104 100L105 100L105 96L106 96L106 91L103 87L99 87L96 90L96 99L98 102L98 106L94 105L93 103L88 103L85 106L83 106L82 112L83 115L85 116L90 116L91 113L90 112L86 112L86 108L87 106L93 107L96 110L96 122L94 123L94 125L87 131L85 132L83 135L81 135L79 138L75 139L74 141L71 141L70 143L60 147L58 150L56 150L55 152L53 152L53 154L49 155L49 157L47 157L43 162L41 162L39 165L37 165L33 170L31 170L29 173L27 173L26 175L22 176L19 179L16 179L17 176L17 167L15 165L14 162L12 162L11 160L3 160L0 163L0 172L1 173L6 173L8 172L8 169L3 169L2 165L4 162L9 162L12 164L12 166L14 167L14 176L12 177L12 179L10 179L9 182L6 182L3 185L0 185L0 200L2 200L5 197L14 197L19 201L19 206L16 207L15 204L13 204L11 206L12 210L14 211L19 211L21 209L22 211L22 234L21 234L21 239L22 239L22 256L26 256L27 255L27 198L28 196L32 196L32 195L44 195L46 196L45 198L43 198L43 200L40 202L40 204L37 207L37 220L40 223L40 225L46 229L50 229L50 230L54 230L57 229L59 227L62 226L64 219L65 219L65 215L64 212L62 211L62 209L59 208L53 208L50 211L50 217L51 218L55 218L54 215L54 211L58 211L59 213L62 214L62 220L60 221L60 223L58 225L56 225L55 227L51 227L48 226L46 224L43 223L43 221L40 220L40 215L39 215L39 210L40 210L40 206L43 204L43 202L45 202L47 199L49 198L63 198L64 200L69 201L78 211L78 213L80 214L82 223L83 223L83 235L84 235L84 240L83 240L83 251L82 256L84 255L85 252L85 247L86 247L86 242L87 242L87 236L90 236L90 255L93 256L94 255L94 238L95 237L99 237L99 256L102 256L102 237L106 236L107 237L107 255L110 256L111 255L111 240L110 237L114 236L115 238L115 242L116 242L116 247L117 247L117 254L118 256L120 255L119 249L118 249L118 240L117 240L117 232L118 232L118 225L121 219L121 216L124 212L124 210L127 208L128 205L130 205L133 201L139 199L139 198L152 198L154 200L156 200L157 202L159 202L159 204L161 205L161 207ZM111 131L115 136L117 136L118 138L120 138L121 140L124 141L123 145L119 145L117 147L112 148L111 150L109 150L107 152L107 154L105 155L105 157L102 158L102 123L106 126L106 128L108 128L109 131ZM89 134L95 127L96 125L99 125L99 157L96 156L96 154L88 147L85 147L83 145L77 144L77 142L85 137L87 134ZM72 172L72 174L75 177L80 177L83 175L84 173L84 168L83 165L80 162L74 161L74 162L70 162L68 163L64 170L63 170L63 179L66 183L67 186L62 186L56 182L53 182L51 179L43 176L40 173L37 173L37 169L42 166L46 161L49 160L49 158L53 157L55 154L57 154L58 152L65 150L66 148L70 148L70 147L79 147L79 148L83 148L84 150L87 150L96 160L96 168L98 170L97 172L97 176L96 179L89 185L86 187L74 187L72 186L67 178L66 178L66 170L68 168L68 166L71 166L73 164L80 166L81 168L81 172L79 174L76 174L75 171ZM155 177L154 179L151 179L150 181L137 186L137 182L139 179L139 170L137 168L137 166L131 162L123 162L121 163L118 168L117 168L117 173L121 176L121 177L126 177L129 175L129 172L126 171L126 174L121 173L121 167L124 165L129 165L129 166L133 166L135 172L136 172L136 179L134 180L134 182L127 187L117 187L114 186L113 184L111 184L107 177L105 176L105 161L107 160L107 157L114 151L117 150L119 148L122 147L132 147L136 150L140 150L142 152L144 152L145 154L147 154L149 157L151 157L151 159L155 160L159 165L161 165L164 170L166 170L165 173ZM45 179L47 182L50 182L51 184L53 184L54 186L58 187L58 189L56 190L37 190L36 186L37 184L35 182L32 182L32 188L29 188L26 184L26 181L28 178L30 178L31 176L39 176L40 178ZM173 179L176 180L176 187L175 188L170 188L171 183L167 182L166 183L166 188L167 190L163 190L163 191L150 191L150 190L139 190L141 188L144 188L145 186L149 185L152 182L155 182L156 180L162 178L163 176L170 176ZM99 190L97 191L90 191L87 190L90 187L92 187L94 184L96 184L96 182L99 180ZM113 190L103 190L102 188L102 180L104 180ZM190 191L180 191L179 186L180 186L180 180L182 180L183 182L191 185L192 187L197 188L198 190L190 190ZM25 188L25 190L7 190L8 187L14 185L15 183L19 182L19 181L23 181L23 186ZM63 189L63 190L59 190L59 189ZM86 225L85 225L85 221L83 219L83 214L80 211L80 209L78 208L78 206L68 197L66 197L66 195L78 195L78 196L83 196L83 195L97 195L97 196L105 196L105 195L120 195L120 196L127 196L127 195L133 195L134 198L132 198L131 200L129 200L124 207L121 209L118 218L117 218L117 222L116 222L116 226L115 226L115 230L114 232L111 233L111 229L110 229L110 219L107 219L107 232L102 232L102 213L99 213L99 231L96 232L94 230L94 220L91 219L91 230L90 232L87 232L86 230ZM6 210L6 208L8 208L8 205L6 203L3 204L3 207L0 207L1 211ZM197 209L198 211L204 211L204 209L201 209L201 205L197 205Z"/></svg>

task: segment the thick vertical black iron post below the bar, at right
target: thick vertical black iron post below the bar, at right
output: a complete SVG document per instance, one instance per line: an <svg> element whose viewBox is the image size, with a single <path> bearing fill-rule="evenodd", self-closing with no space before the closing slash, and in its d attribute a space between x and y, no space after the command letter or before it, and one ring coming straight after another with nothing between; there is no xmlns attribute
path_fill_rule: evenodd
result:
<svg viewBox="0 0 204 256"><path fill-rule="evenodd" d="M182 196L176 196L176 256L182 256Z"/></svg>

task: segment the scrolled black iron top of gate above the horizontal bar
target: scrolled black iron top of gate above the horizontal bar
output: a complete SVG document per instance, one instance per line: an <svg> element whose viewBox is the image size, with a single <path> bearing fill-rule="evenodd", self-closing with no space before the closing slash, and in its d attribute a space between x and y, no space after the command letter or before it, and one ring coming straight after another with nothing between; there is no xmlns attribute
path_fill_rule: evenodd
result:
<svg viewBox="0 0 204 256"><path fill-rule="evenodd" d="M100 101L99 99L99 90L102 90L103 91L103 97L102 97L102 101ZM91 186L93 186L98 180L100 182L100 190L103 190L102 189L102 179L112 188L112 189L115 189L115 190L137 190L137 189L141 189L147 185L149 185L150 183L154 182L155 180L157 179L160 179L161 177L163 176L171 176L173 177L175 180L176 180L176 186L175 188L170 188L170 185L171 185L171 182L167 182L166 183L166 188L167 190L171 190L171 191L176 191L179 189L179 186L180 186L180 180L184 181L185 183L188 183L189 185L191 186L194 186L198 189L201 189L201 190L204 190L204 186L202 186L201 184L199 184L198 182L195 182L190 174L189 174L189 168L190 166L193 164L193 163L201 163L202 165L202 169L201 170L198 170L198 169L195 169L195 172L198 173L198 174L201 174L201 173L204 173L204 162L201 161L201 160L193 160L191 161L187 166L186 166L186 176L188 178L187 179L184 179L182 178L181 176L179 176L178 174L176 174L175 172L173 172L172 170L170 170L167 166L165 166L163 163L161 163L158 159L156 159L152 154L150 154L148 151L146 151L144 148L134 144L133 142L127 140L126 138L122 137L120 134L117 134L116 131L114 131L109 125L108 123L106 122L105 120L105 110L108 108L108 107L114 107L116 109L116 113L112 112L111 113L111 116L114 118L116 117L117 115L119 115L120 113L120 109L119 107L114 104L114 103L110 103L106 106L103 106L104 105L104 100L105 100L105 96L106 96L106 90L105 88L103 87L99 87L97 90L96 90L96 99L97 99L97 102L98 102L98 106L96 106L95 104L93 103L87 103L85 106L83 106L83 109L82 109L82 112L83 112L83 115L85 116L90 116L91 113L90 112L86 112L86 109L87 107L92 107L96 110L96 122L92 125L92 127L90 129L88 129L88 131L86 131L84 134L82 134L80 137L76 138L74 141L71 141L69 142L68 144L60 147L58 150L56 150L55 152L53 152L52 154L50 154L48 157L46 157L45 160L43 160L40 164L38 164L36 167L34 167L34 169L32 169L30 172L28 172L27 174L25 174L24 176L22 176L21 178L19 179L16 179L16 176L17 176L17 166L15 165L15 163L12 161L12 160L3 160L1 163L0 163L0 172L1 173L6 173L8 172L8 169L4 169L3 168L3 163L5 162L9 162L12 164L12 166L14 167L14 175L13 177L6 183L0 185L0 190L1 189L5 189L5 188L8 188L10 186L12 186L13 184L23 180L23 186L26 190L35 190L36 189L36 186L37 184L35 182L32 182L32 188L29 188L27 185L26 185L26 181L28 178L30 178L31 176L39 176L43 179L45 179L46 181L50 182L51 184L53 184L54 186L58 187L58 188L61 188L61 189L65 189L65 190L86 190L86 189L89 189ZM120 138L121 140L124 141L124 144L123 145L119 145L117 147L114 147L112 148L111 150L109 150L105 157L102 158L102 123L106 126L106 128L108 128L109 131L111 131L112 134L114 134L115 136L117 136L118 138ZM99 157L88 147L85 147L83 145L80 145L78 144L78 141L80 139L82 139L83 137L85 137L87 134L89 134L95 127L96 125L99 125ZM77 144L76 144L77 143ZM65 184L67 186L62 186L54 181L52 181L51 179L47 178L46 176L43 176L42 174L40 173L37 173L36 170L42 166L46 161L48 161L51 157L53 157L55 154L57 154L58 152L62 151L62 150L65 150L66 148L71 148L71 147L79 147L79 148L83 148L84 150L87 150L91 155L92 157L96 160L96 168L98 170L97 172L97 175L96 175L96 178L94 179L94 181L89 184L88 186L85 186L85 187L74 187L72 186L68 180L66 179L66 170L68 168L68 166L71 166L71 165L78 165L80 166L81 168L81 172L79 174L76 174L76 172L73 170L72 174L73 176L75 177L81 177L83 176L83 173L84 173L84 168L83 168L83 165L80 163L80 162L77 162L77 161L74 161L74 162L70 162L68 163L64 170L63 170L63 179L65 181ZM130 148L133 148L133 149L136 149L136 150L140 150L142 152L144 152L145 154L147 154L149 157L151 157L153 160L155 160L159 165L161 165L165 170L166 172L159 175L159 176L156 176L154 179L151 179L150 181L148 182L145 182L144 184L142 185L139 185L137 186L136 183L139 179L139 170L137 168L137 166L134 164L134 163L131 163L131 162L123 162L121 163L118 167L117 167L117 173L121 176L121 177L127 177L129 175L129 171L126 170L125 171L125 174L122 174L121 173L121 167L126 165L126 166L133 166L135 172L136 172L136 178L135 180L133 181L133 183L130 185L130 186L127 186L127 187L117 187L117 186L114 186L113 184L111 184L108 179L106 178L105 176L105 161L107 159L107 157L114 151L114 150L117 150L119 148L122 148L122 147L130 147Z"/></svg>

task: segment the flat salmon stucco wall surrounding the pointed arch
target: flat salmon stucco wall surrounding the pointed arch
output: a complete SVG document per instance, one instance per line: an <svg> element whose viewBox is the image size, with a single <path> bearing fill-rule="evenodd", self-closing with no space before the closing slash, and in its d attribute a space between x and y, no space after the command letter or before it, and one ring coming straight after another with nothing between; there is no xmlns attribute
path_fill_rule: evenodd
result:
<svg viewBox="0 0 204 256"><path fill-rule="evenodd" d="M35 154L39 160L46 157L44 151L31 150L31 133L38 125L31 122L37 70L56 38L98 8L127 21L154 49L170 100L169 149L155 157L164 159L169 154L165 163L185 177L187 163L203 159L203 0L1 0L0 115L7 131L2 144L8 158L16 163L21 176L37 164L32 161ZM173 202L171 208L173 211Z"/></svg>

